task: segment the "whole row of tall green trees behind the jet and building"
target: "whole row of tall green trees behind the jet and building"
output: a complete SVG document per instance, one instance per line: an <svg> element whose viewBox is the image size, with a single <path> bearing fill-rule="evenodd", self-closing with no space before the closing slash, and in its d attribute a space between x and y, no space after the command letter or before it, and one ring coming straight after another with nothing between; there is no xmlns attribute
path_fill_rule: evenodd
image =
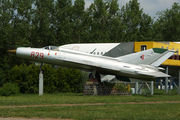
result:
<svg viewBox="0 0 180 120"><path fill-rule="evenodd" d="M0 0L0 86L15 65L30 65L6 52L14 46L180 41L178 3L157 19L138 0L119 6L118 0L94 0L86 9L84 0Z"/></svg>

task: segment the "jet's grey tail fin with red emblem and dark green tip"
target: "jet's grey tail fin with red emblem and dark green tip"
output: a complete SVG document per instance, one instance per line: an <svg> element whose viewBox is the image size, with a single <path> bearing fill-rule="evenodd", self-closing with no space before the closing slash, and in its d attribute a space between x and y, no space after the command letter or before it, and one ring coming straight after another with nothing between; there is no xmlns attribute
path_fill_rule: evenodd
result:
<svg viewBox="0 0 180 120"><path fill-rule="evenodd" d="M149 50L132 53L118 57L122 62L131 64L146 64L152 66L159 66L169 57L171 57L176 51L162 49L162 48L152 48Z"/></svg>

